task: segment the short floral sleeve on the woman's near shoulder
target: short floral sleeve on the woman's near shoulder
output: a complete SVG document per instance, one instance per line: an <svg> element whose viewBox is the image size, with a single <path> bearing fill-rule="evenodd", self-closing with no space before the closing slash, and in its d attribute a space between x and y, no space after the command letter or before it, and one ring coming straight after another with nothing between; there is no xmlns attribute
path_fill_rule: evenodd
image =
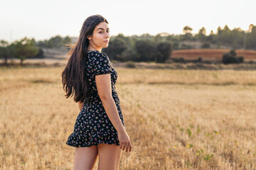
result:
<svg viewBox="0 0 256 170"><path fill-rule="evenodd" d="M112 67L110 64L110 59L105 53L100 53L95 56L95 63L93 67L93 72L96 75L100 74L110 74L112 72Z"/></svg>

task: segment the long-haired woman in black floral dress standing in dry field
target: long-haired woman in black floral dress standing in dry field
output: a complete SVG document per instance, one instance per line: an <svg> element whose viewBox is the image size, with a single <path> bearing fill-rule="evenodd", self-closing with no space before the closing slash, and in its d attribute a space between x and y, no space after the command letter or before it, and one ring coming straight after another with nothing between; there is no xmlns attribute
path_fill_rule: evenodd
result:
<svg viewBox="0 0 256 170"><path fill-rule="evenodd" d="M109 40L107 20L100 15L88 17L62 73L66 98L74 96L80 108L66 142L75 147L74 170L93 169L98 155L99 169L118 169L122 150L132 150L114 87L117 72L101 52Z"/></svg>

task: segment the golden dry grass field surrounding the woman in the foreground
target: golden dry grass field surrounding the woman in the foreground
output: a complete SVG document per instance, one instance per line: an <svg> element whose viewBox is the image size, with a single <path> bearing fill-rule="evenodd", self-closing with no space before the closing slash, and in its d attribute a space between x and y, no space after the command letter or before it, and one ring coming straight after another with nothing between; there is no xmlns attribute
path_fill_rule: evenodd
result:
<svg viewBox="0 0 256 170"><path fill-rule="evenodd" d="M0 169L72 169L65 142L79 109L62 70L0 68ZM133 146L120 170L256 169L255 71L117 72Z"/></svg>

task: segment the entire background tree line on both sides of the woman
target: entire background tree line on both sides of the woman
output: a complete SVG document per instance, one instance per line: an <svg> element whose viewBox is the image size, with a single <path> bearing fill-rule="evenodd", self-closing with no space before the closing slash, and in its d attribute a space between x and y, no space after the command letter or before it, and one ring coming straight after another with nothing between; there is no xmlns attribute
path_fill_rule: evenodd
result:
<svg viewBox="0 0 256 170"><path fill-rule="evenodd" d="M218 27L217 32L210 31L206 35L206 28L201 28L198 33L192 34L193 28L185 26L183 34L170 35L169 33L159 33L157 35L124 36L119 34L112 36L109 46L103 48L102 52L106 52L110 60L120 62L165 62L171 57L173 50L194 49L196 44L200 42L199 48L230 48L230 49L247 49L256 50L256 26L250 25L247 31L241 28L230 30L228 26L224 28ZM4 61L11 57L23 60L28 57L43 57L43 48L62 48L69 49L72 40L69 36L62 38L60 35L50 38L49 40L41 40L36 42L33 38L23 38L9 44L4 40L0 40L0 58ZM230 53L235 54L235 53ZM241 61L241 60L239 60Z"/></svg>

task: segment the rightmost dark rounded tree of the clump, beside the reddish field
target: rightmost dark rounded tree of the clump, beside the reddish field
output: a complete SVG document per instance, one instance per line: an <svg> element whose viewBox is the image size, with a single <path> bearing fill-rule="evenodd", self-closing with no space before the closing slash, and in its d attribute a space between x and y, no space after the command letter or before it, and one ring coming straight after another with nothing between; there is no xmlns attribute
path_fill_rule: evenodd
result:
<svg viewBox="0 0 256 170"><path fill-rule="evenodd" d="M156 48L161 53L161 55L156 58L156 62L165 62L169 57L171 57L171 42L160 42Z"/></svg>

